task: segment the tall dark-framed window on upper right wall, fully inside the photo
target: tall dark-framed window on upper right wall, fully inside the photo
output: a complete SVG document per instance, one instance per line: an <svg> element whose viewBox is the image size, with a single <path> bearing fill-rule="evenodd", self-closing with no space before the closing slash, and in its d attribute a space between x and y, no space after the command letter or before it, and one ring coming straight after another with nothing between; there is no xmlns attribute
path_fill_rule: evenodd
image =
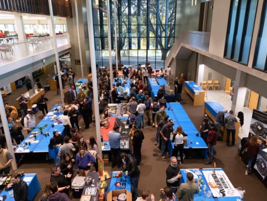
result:
<svg viewBox="0 0 267 201"><path fill-rule="evenodd" d="M224 56L247 65L258 0L231 0Z"/></svg>

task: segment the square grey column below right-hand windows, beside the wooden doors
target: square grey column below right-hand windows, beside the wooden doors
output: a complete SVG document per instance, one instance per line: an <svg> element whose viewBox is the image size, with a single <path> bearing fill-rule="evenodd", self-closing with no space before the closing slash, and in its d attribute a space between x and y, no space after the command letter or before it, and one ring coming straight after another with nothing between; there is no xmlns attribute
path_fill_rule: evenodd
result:
<svg viewBox="0 0 267 201"><path fill-rule="evenodd" d="M235 85L234 85L234 95L232 101L231 110L234 111L234 114L237 116L238 112L244 110L244 103L245 103L245 94L246 94L246 87L245 87L245 80L246 80L246 73L237 70L236 78L235 78Z"/></svg>

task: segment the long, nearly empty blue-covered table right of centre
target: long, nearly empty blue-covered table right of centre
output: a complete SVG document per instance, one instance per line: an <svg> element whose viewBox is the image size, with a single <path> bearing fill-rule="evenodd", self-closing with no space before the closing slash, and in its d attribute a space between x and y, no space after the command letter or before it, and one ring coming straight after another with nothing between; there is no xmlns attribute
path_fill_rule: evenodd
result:
<svg viewBox="0 0 267 201"><path fill-rule="evenodd" d="M174 129L178 126L182 126L183 131L188 135L187 136L187 145L184 146L184 149L202 149L203 150L203 158L207 158L207 145L204 140L196 134L199 133L198 129L192 123L187 113L181 106L179 102L171 102L167 103L167 108L165 109L169 118L172 119L175 123ZM170 156L172 156L172 152L174 149L174 143L170 140L168 151Z"/></svg>

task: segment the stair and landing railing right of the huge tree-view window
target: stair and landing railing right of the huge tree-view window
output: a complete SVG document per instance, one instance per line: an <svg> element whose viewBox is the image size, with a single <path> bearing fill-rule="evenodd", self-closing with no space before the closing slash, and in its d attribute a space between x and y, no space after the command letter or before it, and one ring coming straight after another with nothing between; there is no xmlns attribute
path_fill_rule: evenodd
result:
<svg viewBox="0 0 267 201"><path fill-rule="evenodd" d="M175 39L175 42L171 50L168 52L167 58L165 60L165 66L170 65L172 59L176 58L179 51L179 47L181 45L186 44L193 48L208 51L209 40L210 40L210 32L190 31L190 30L182 31L179 37Z"/></svg>

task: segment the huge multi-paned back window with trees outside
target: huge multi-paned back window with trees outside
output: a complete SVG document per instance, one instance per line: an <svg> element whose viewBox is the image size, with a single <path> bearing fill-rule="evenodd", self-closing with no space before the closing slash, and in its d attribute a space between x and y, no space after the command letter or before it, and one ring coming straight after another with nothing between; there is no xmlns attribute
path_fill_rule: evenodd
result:
<svg viewBox="0 0 267 201"><path fill-rule="evenodd" d="M105 0L92 0L96 60L109 64L108 22ZM176 0L118 0L118 62L164 67L168 50L174 43ZM115 63L114 8L110 0L112 63Z"/></svg>

